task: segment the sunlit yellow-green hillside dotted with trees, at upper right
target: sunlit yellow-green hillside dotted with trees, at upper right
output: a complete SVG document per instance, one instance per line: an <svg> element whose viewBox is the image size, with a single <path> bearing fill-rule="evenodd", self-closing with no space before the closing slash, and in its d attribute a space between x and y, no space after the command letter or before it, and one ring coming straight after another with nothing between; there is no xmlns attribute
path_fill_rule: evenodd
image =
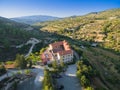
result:
<svg viewBox="0 0 120 90"><path fill-rule="evenodd" d="M120 52L120 9L93 12L84 16L37 23L41 30L77 40L99 42L104 48Z"/></svg>

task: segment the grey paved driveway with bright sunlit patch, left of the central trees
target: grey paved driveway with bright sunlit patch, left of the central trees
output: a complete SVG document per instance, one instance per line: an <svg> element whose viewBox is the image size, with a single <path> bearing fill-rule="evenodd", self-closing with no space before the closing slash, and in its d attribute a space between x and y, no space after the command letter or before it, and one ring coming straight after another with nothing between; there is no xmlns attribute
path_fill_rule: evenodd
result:
<svg viewBox="0 0 120 90"><path fill-rule="evenodd" d="M36 69L31 69L31 71L37 73L37 75L21 82L17 90L42 90L43 67L36 66Z"/></svg>

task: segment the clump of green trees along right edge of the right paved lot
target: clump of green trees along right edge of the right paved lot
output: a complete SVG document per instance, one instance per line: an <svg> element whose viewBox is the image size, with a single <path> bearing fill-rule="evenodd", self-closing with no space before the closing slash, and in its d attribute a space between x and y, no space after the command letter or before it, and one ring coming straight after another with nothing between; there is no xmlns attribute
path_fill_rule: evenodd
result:
<svg viewBox="0 0 120 90"><path fill-rule="evenodd" d="M77 62L77 77L81 85L85 88L89 87L91 84L91 78L96 75L95 70L89 65L85 65L83 60Z"/></svg>

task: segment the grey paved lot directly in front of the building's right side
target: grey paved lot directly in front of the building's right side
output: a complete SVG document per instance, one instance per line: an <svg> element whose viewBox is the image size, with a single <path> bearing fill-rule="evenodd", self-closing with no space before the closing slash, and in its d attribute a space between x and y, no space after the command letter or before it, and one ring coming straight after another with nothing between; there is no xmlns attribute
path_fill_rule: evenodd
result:
<svg viewBox="0 0 120 90"><path fill-rule="evenodd" d="M57 81L60 85L64 85L63 90L82 90L76 77L76 65L70 65L65 75Z"/></svg>

